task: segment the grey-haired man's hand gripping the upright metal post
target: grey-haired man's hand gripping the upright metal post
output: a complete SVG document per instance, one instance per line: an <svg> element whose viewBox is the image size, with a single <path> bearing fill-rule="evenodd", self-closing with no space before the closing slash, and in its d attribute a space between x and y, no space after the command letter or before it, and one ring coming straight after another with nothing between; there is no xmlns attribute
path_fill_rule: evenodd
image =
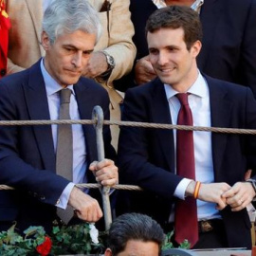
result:
<svg viewBox="0 0 256 256"><path fill-rule="evenodd" d="M97 182L102 186L111 187L119 183L119 169L110 159L92 162L89 170L95 174Z"/></svg>

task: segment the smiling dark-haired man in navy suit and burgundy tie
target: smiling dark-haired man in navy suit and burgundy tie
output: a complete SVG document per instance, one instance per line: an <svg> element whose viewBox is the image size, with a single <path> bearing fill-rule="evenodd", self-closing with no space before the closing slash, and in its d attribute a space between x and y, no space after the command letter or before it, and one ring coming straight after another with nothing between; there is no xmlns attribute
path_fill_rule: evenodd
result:
<svg viewBox="0 0 256 256"><path fill-rule="evenodd" d="M123 120L256 128L249 87L203 75L202 27L190 7L156 9L147 26L155 80L127 90ZM256 137L121 126L119 180L137 185L130 209L152 216L192 248L251 247L247 205L255 198ZM119 194L120 196L121 194ZM119 197L117 206L124 207ZM117 211L120 214L120 211ZM241 239L243 237L243 239Z"/></svg>

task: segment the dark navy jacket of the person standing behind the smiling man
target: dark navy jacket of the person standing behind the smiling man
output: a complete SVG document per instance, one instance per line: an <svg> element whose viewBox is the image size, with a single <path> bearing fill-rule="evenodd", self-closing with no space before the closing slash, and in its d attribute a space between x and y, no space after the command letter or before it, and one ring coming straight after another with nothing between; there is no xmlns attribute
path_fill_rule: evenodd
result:
<svg viewBox="0 0 256 256"><path fill-rule="evenodd" d="M156 9L152 0L131 0L133 40L137 59L148 55L146 21ZM250 86L256 96L256 1L206 0L200 12L203 26L199 69L221 80ZM125 78L127 81L125 81ZM123 90L135 86L133 74L120 82ZM125 83L126 82L126 83ZM121 89L121 88L119 88Z"/></svg>

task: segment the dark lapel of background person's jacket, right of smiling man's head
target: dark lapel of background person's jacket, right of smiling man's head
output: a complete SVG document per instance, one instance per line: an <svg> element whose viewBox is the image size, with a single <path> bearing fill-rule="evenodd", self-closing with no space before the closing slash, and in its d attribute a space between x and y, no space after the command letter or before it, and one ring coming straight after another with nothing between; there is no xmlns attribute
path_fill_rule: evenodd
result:
<svg viewBox="0 0 256 256"><path fill-rule="evenodd" d="M205 65L207 64L207 61L209 59L209 53L210 53L210 46L212 44L210 42L214 41L214 36L218 31L217 25L219 16L222 15L222 1L221 0L207 0L205 1L204 5L202 6L201 13L200 13L200 20L202 22L203 26L203 47L202 50L197 58L197 63L200 69L204 69ZM205 31L211 31L205 32Z"/></svg>

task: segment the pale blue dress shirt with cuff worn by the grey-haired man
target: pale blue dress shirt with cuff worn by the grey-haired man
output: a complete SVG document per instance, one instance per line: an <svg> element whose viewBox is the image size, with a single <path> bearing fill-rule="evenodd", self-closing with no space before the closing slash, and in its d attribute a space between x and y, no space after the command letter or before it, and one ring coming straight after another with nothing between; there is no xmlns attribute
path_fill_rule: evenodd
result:
<svg viewBox="0 0 256 256"><path fill-rule="evenodd" d="M44 59L41 61L41 70L46 84L46 94L49 107L50 119L59 118L60 109L60 96L59 91L63 87L56 82L46 71L44 66ZM70 119L81 119L79 115L78 103L75 97L75 91L73 85L68 85L66 88L72 91L70 97ZM56 153L57 148L57 124L51 125L53 144ZM60 208L66 208L68 198L71 190L78 183L85 183L85 171L86 171L86 148L85 148L85 137L82 131L81 124L72 124L72 134L73 134L73 182L70 182L64 189L60 197L60 203L57 205Z"/></svg>

